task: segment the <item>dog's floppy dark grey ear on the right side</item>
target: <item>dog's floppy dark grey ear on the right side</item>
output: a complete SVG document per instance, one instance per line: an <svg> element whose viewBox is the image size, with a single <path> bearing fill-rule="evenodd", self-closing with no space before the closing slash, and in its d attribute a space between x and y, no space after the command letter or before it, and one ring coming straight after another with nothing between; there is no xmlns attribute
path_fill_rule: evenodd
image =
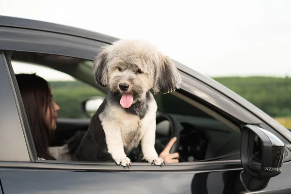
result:
<svg viewBox="0 0 291 194"><path fill-rule="evenodd" d="M162 95L179 89L182 79L173 61L159 53L155 64L154 94Z"/></svg>

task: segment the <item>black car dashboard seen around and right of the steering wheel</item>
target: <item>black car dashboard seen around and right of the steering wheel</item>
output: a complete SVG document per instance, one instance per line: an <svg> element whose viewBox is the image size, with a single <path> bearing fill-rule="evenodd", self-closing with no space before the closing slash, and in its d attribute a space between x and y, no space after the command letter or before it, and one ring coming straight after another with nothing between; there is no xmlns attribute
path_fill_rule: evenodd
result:
<svg viewBox="0 0 291 194"><path fill-rule="evenodd" d="M179 162L219 159L240 152L241 133L211 117L171 114L179 122ZM177 129L174 129L177 130ZM157 124L157 152L163 150L172 138L170 122ZM240 157L238 155L238 157Z"/></svg>

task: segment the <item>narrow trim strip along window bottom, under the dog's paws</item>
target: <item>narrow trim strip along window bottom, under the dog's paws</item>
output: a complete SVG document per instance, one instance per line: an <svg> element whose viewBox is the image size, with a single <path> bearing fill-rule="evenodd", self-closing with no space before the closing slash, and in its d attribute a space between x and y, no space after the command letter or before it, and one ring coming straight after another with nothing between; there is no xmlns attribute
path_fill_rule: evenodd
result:
<svg viewBox="0 0 291 194"><path fill-rule="evenodd" d="M242 170L241 160L216 162L180 162L155 166L148 162L133 162L132 167L125 168L113 162L72 162L72 161L37 161L37 162L0 162L0 168L51 169L72 171L224 171Z"/></svg>

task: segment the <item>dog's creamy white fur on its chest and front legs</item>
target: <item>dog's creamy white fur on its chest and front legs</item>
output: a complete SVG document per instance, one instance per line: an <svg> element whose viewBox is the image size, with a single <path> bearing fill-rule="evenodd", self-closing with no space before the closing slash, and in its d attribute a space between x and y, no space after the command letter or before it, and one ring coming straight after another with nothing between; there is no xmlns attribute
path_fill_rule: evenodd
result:
<svg viewBox="0 0 291 194"><path fill-rule="evenodd" d="M157 103L152 100L149 103L149 110L143 119L137 115L126 113L123 109L116 106L107 106L104 112L99 114L103 130L106 136L108 152L112 155L117 164L123 166L130 165L130 159L124 152L124 146L129 146L131 139L128 134L136 129L140 132L137 134L137 141L142 140L142 151L147 162L161 165L163 160L158 158L155 150L156 134L156 111ZM133 145L137 146L137 145Z"/></svg>

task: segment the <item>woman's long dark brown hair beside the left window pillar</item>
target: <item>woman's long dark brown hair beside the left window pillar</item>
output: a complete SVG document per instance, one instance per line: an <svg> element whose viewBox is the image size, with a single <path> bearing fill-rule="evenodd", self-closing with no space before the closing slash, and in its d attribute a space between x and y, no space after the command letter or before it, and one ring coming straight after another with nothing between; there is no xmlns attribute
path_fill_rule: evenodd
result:
<svg viewBox="0 0 291 194"><path fill-rule="evenodd" d="M16 80L28 118L37 156L55 160L49 154L51 126L46 122L45 113L52 113L49 83L36 74L16 74Z"/></svg>

